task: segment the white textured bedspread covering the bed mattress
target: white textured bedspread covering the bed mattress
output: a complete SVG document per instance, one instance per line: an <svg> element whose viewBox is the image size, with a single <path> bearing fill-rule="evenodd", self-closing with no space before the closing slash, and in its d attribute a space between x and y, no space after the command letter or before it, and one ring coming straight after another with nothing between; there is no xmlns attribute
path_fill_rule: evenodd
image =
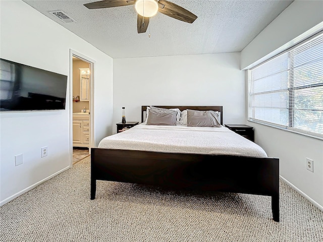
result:
<svg viewBox="0 0 323 242"><path fill-rule="evenodd" d="M102 139L98 148L267 157L260 146L226 127L154 126L142 123Z"/></svg>

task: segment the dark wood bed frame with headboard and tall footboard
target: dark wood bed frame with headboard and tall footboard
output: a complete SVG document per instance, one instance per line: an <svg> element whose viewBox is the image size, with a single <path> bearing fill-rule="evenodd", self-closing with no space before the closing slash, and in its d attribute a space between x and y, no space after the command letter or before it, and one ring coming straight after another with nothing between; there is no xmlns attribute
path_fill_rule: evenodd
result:
<svg viewBox="0 0 323 242"><path fill-rule="evenodd" d="M223 124L222 106L157 107L220 111ZM271 196L279 222L278 158L91 148L91 199L96 180Z"/></svg>

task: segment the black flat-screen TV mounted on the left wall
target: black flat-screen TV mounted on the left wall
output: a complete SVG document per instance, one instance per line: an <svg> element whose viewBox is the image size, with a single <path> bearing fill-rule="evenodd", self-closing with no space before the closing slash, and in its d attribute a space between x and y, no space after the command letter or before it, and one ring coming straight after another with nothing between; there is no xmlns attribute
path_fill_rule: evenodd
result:
<svg viewBox="0 0 323 242"><path fill-rule="evenodd" d="M0 58L0 111L65 109L67 76Z"/></svg>

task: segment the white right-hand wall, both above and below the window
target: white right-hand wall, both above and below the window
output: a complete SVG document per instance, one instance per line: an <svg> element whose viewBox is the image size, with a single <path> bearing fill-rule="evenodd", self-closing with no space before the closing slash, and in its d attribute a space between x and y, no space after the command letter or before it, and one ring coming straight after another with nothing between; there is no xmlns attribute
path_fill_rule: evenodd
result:
<svg viewBox="0 0 323 242"><path fill-rule="evenodd" d="M254 66L275 49L290 47L296 40L323 26L323 1L295 1L241 52L241 68ZM275 52L275 51L274 51ZM269 156L280 158L280 174L296 190L323 210L323 141L248 122L255 127L255 141ZM306 169L314 160L314 172Z"/></svg>

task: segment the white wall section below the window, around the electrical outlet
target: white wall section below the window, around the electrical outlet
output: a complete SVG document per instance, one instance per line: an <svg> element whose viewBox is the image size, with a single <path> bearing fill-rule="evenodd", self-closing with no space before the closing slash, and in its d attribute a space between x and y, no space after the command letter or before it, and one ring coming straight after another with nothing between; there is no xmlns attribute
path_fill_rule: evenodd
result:
<svg viewBox="0 0 323 242"><path fill-rule="evenodd" d="M268 156L280 159L280 175L298 192L323 210L323 141L252 122L255 141ZM314 172L306 169L314 160Z"/></svg>

